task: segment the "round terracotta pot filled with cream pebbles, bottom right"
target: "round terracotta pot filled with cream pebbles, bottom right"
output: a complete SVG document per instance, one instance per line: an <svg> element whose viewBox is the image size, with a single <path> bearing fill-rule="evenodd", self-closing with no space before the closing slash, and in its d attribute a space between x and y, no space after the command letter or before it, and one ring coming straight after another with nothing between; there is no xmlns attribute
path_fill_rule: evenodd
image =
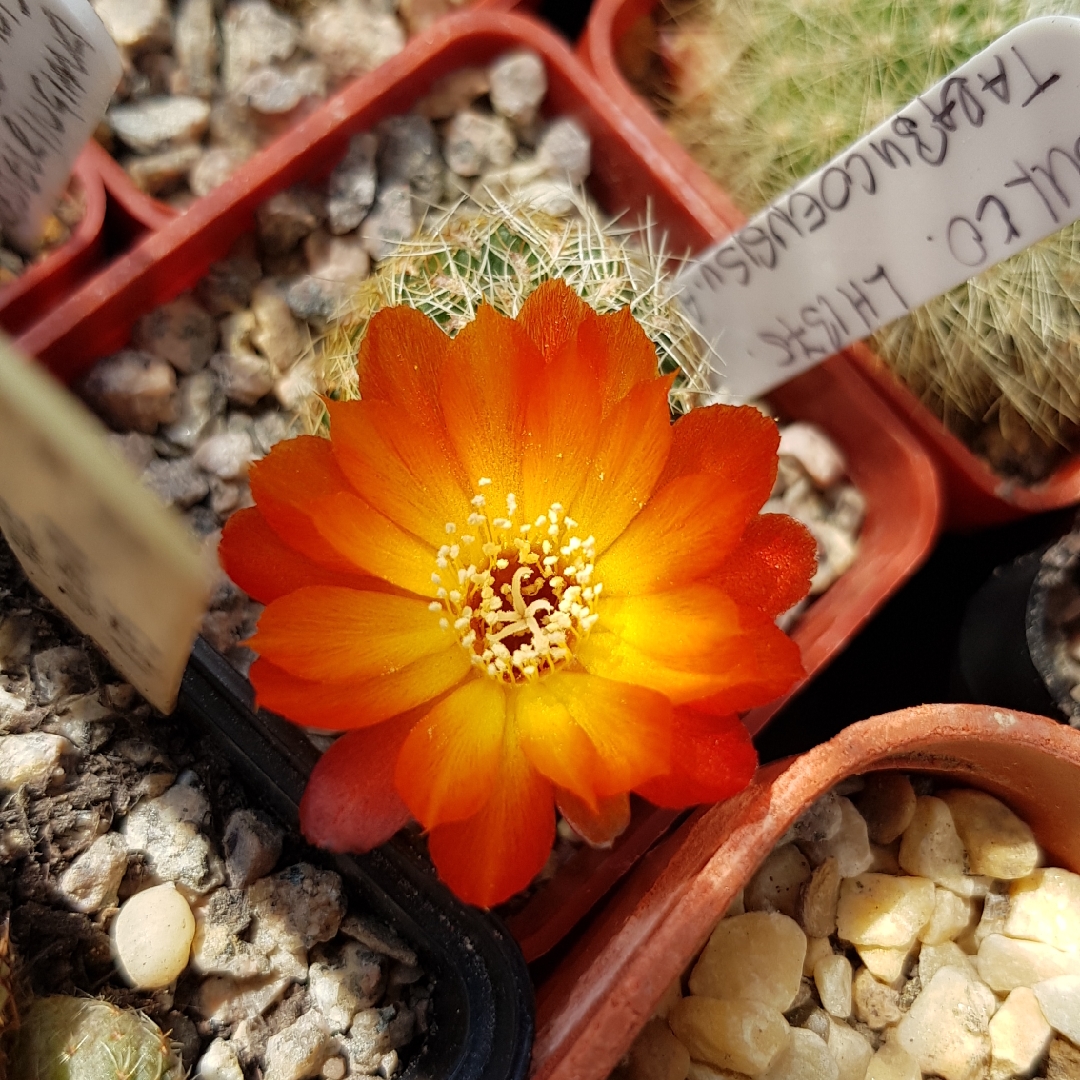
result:
<svg viewBox="0 0 1080 1080"><path fill-rule="evenodd" d="M863 720L761 770L643 862L538 988L534 1080L603 1080L795 819L839 781L881 769L998 796L1030 824L1050 864L1080 872L1080 731L988 705Z"/></svg>

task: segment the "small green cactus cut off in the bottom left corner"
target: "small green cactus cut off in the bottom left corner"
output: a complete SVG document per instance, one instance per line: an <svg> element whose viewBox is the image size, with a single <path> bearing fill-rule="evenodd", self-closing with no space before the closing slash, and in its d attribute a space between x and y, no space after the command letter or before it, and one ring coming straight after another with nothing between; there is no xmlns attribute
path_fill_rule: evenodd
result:
<svg viewBox="0 0 1080 1080"><path fill-rule="evenodd" d="M18 1080L181 1080L160 1028L95 998L39 998L23 1017L9 1075Z"/></svg>

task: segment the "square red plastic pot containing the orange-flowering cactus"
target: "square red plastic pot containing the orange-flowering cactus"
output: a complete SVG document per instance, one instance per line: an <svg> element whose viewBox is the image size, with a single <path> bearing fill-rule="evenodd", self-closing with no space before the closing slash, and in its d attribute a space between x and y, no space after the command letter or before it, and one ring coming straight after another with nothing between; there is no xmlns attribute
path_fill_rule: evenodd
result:
<svg viewBox="0 0 1080 1080"><path fill-rule="evenodd" d="M602 205L631 218L648 212L667 231L675 251L704 245L710 232L685 190L673 183L666 163L650 152L561 38L522 15L467 12L432 28L327 100L225 185L146 237L19 345L70 381L95 359L126 345L140 314L190 288L252 230L256 208L270 195L299 180L326 176L352 135L407 111L442 76L522 46L546 63L546 109L576 117L589 130L594 161L590 188ZM831 433L867 500L855 564L795 631L811 678L926 557L937 528L937 485L916 440L845 357L784 387L775 403L793 419L812 420ZM759 730L780 704L751 713L751 731ZM611 851L579 851L510 921L526 956L540 956L558 942L674 819L670 811L639 805L632 827Z"/></svg>

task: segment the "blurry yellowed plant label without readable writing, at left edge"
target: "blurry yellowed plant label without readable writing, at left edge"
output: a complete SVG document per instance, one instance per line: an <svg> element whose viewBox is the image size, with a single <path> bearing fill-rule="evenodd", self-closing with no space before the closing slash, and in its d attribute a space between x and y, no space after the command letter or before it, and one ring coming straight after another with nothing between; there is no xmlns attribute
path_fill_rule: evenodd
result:
<svg viewBox="0 0 1080 1080"><path fill-rule="evenodd" d="M0 531L33 584L171 712L210 596L207 559L100 421L2 337Z"/></svg>

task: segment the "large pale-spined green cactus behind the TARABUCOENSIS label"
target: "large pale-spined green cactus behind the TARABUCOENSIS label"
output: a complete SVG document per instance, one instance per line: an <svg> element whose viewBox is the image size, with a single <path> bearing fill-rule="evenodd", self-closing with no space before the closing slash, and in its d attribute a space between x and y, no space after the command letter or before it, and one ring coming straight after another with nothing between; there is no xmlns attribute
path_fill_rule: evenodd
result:
<svg viewBox="0 0 1080 1080"><path fill-rule="evenodd" d="M671 33L669 124L752 214L1005 30L1053 13L1080 0L701 0ZM1039 443L1068 444L1080 424L1078 247L1070 226L872 342L958 433L985 442L996 418L1032 451L1015 462L1029 478L1052 460Z"/></svg>

